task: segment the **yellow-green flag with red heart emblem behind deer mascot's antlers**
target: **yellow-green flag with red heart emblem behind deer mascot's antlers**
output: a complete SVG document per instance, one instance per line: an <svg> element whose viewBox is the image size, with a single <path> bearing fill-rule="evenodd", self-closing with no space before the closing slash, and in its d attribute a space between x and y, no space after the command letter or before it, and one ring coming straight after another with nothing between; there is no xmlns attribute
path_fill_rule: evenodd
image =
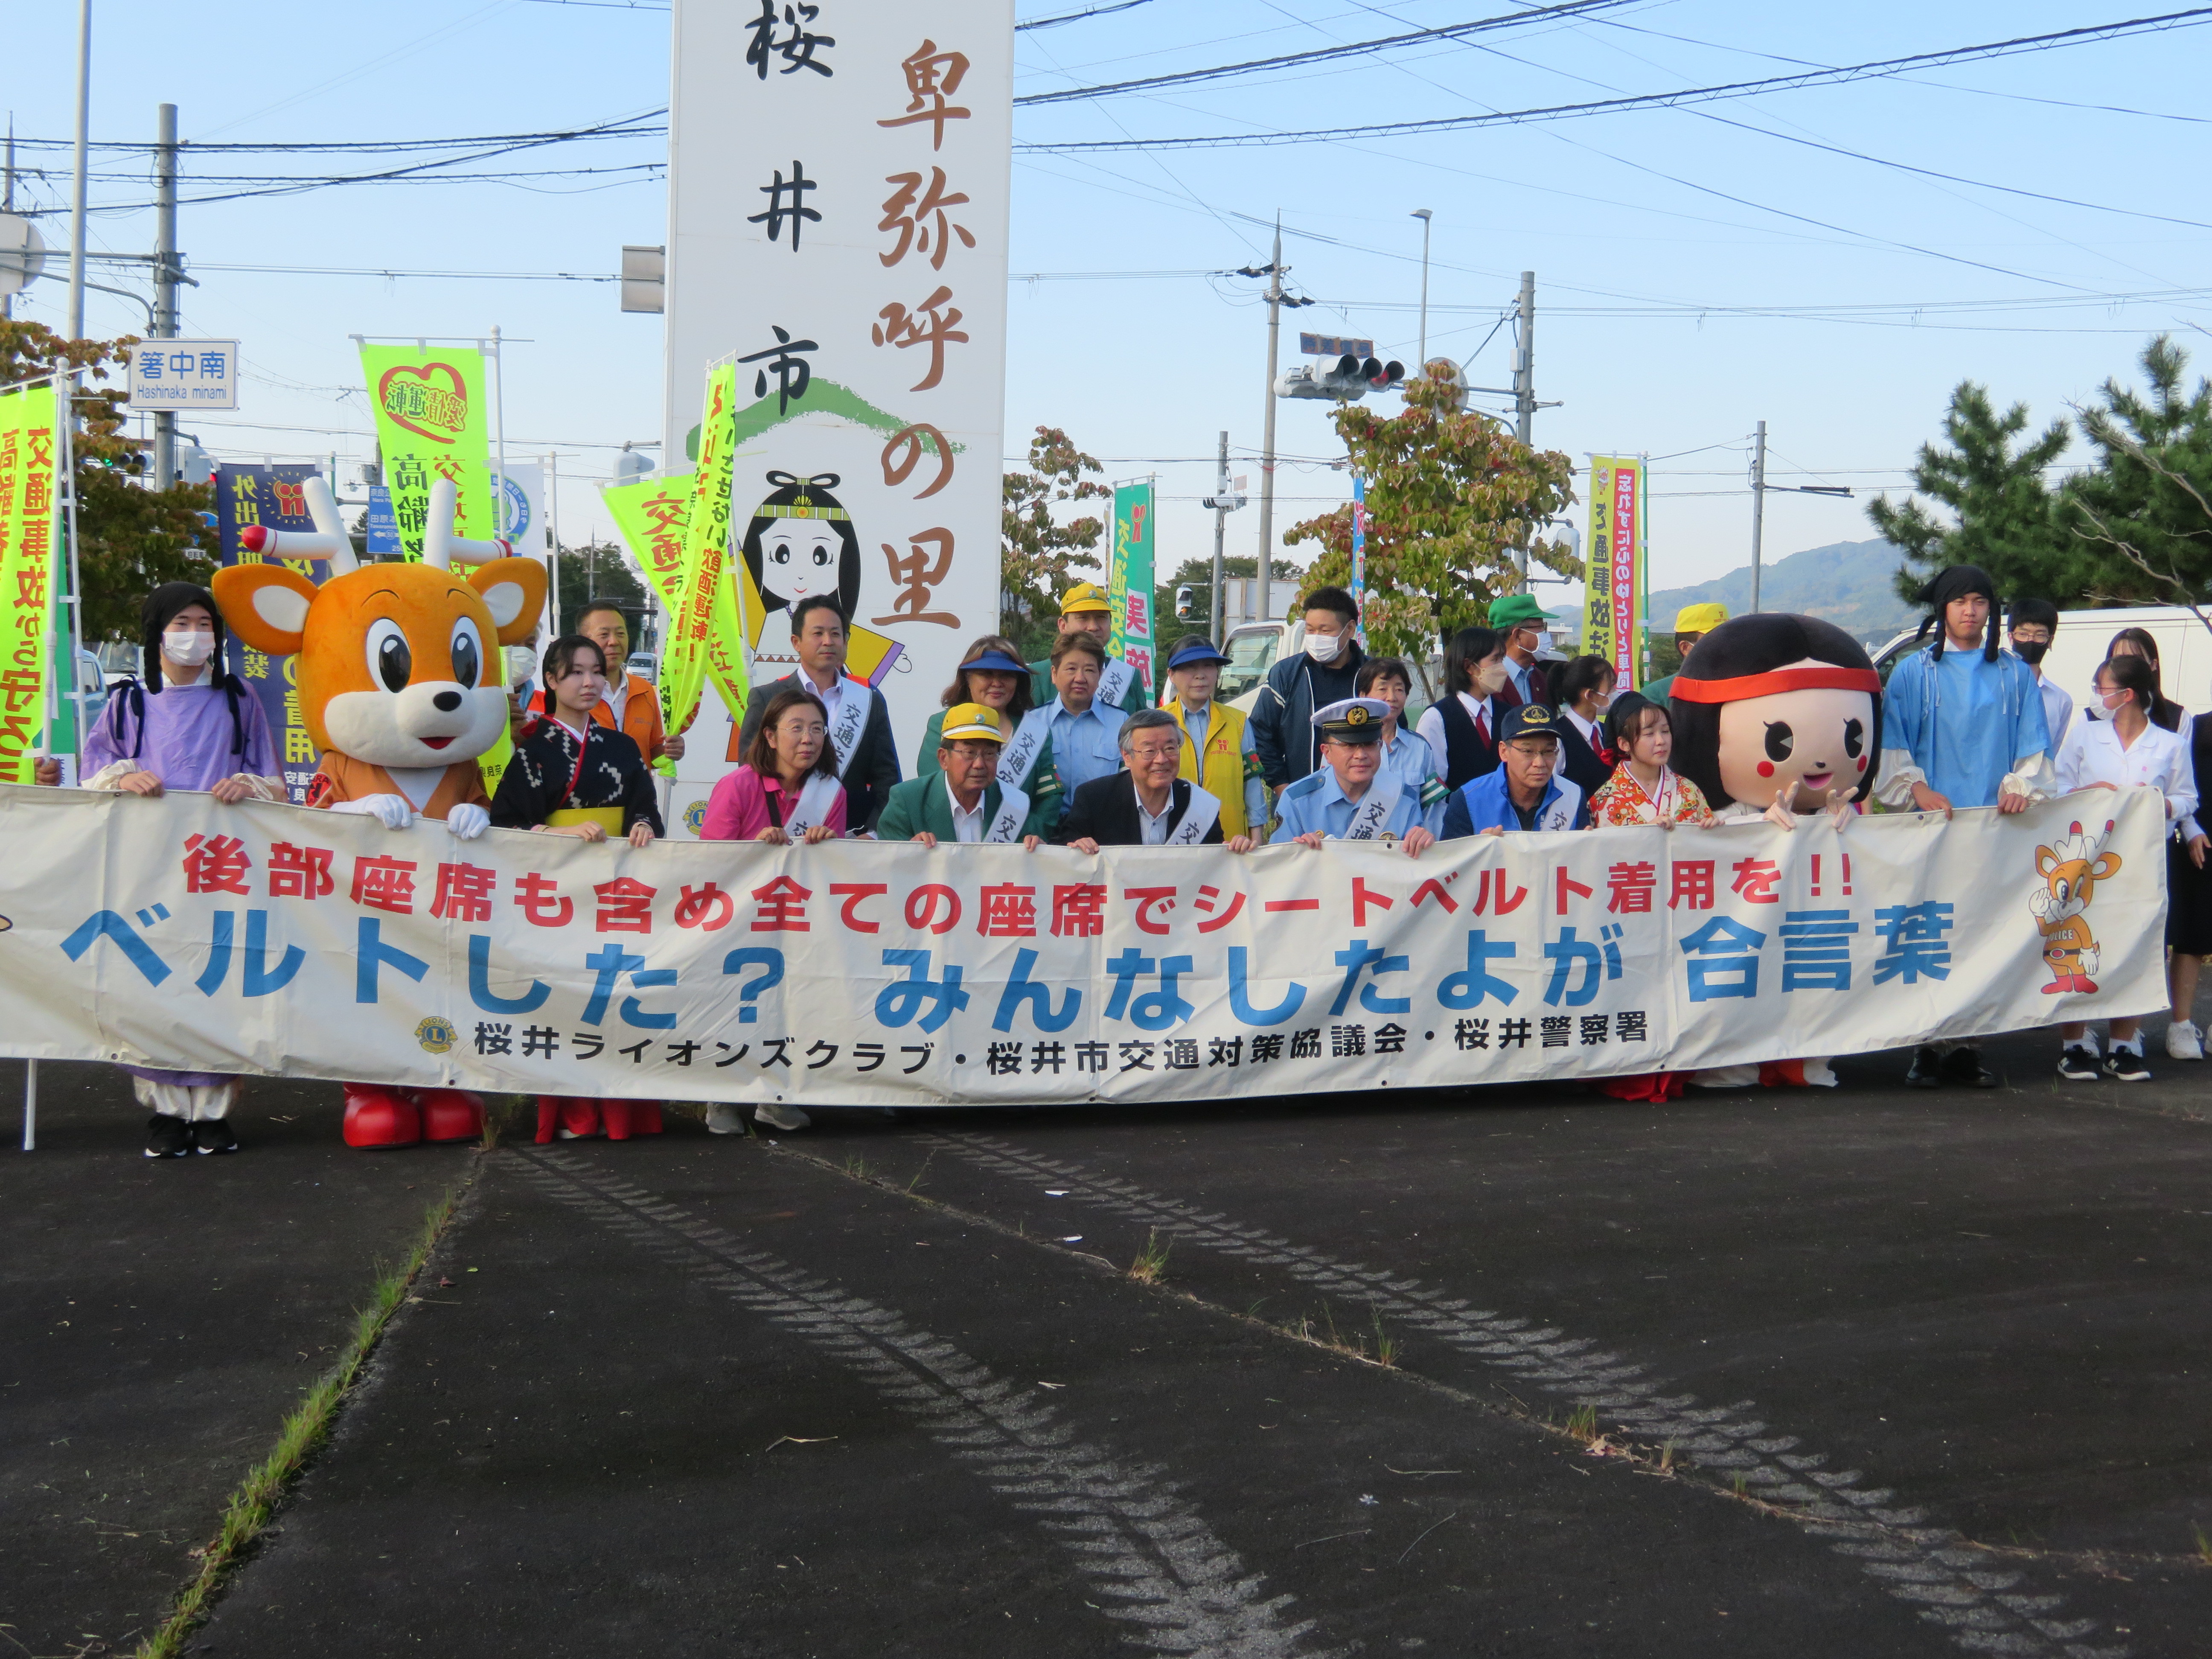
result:
<svg viewBox="0 0 2212 1659"><path fill-rule="evenodd" d="M422 557L429 487L451 478L453 535L489 542L500 533L491 502L491 427L484 418L484 354L471 347L363 345L361 374L376 414L400 555Z"/></svg>

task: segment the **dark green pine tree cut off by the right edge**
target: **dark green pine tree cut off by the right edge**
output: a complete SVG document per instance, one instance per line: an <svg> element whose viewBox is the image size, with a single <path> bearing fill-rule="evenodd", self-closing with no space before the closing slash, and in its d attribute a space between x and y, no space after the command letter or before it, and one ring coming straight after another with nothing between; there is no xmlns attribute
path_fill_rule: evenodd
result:
<svg viewBox="0 0 2212 1659"><path fill-rule="evenodd" d="M2106 380L2101 407L2077 409L2097 467L2059 491L2057 520L2088 553L2081 597L2197 608L2212 591L2212 385L2183 389L2190 361L2166 334L2139 361L2148 396Z"/></svg>

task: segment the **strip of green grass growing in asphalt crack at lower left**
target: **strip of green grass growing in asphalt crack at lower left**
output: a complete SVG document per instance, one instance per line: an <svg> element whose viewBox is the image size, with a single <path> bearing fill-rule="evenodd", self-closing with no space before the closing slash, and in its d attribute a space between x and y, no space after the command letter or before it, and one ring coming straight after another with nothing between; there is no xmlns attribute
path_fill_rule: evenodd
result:
<svg viewBox="0 0 2212 1659"><path fill-rule="evenodd" d="M199 1573L184 1586L168 1619L139 1644L133 1659L173 1659L184 1652L186 1639L208 1617L208 1608L221 1595L230 1575L246 1562L254 1540L268 1528L276 1506L292 1482L299 1480L301 1469L305 1469L307 1458L330 1438L330 1425L336 1420L347 1389L361 1376L361 1367L367 1365L392 1316L407 1301L407 1287L422 1272L422 1263L429 1261L429 1252L453 1219L458 1203L460 1188L449 1190L434 1203L429 1214L422 1217L422 1228L416 1232L407 1261L376 1279L367 1307L354 1312L354 1332L343 1343L338 1360L307 1387L307 1394L301 1396L301 1402L292 1407L276 1431L276 1444L270 1449L270 1455L248 1469L246 1480L230 1493L215 1540L195 1551L199 1555Z"/></svg>

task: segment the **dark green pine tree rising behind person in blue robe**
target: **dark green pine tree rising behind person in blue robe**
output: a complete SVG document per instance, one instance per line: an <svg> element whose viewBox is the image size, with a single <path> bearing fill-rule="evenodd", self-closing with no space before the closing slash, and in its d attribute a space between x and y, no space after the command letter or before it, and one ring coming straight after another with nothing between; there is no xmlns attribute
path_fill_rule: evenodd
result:
<svg viewBox="0 0 2212 1659"><path fill-rule="evenodd" d="M1947 564L1980 564L1997 593L2033 593L2066 604L2081 593L2088 560L2053 511L2057 500L2044 473L2070 442L2064 420L2015 447L2028 429L2028 405L2002 416L1989 387L1960 380L1944 411L1944 447L1920 445L1913 489L1949 511L1949 522L1920 495L1867 502L1874 529L1905 555L1898 595L1920 599L1920 588Z"/></svg>

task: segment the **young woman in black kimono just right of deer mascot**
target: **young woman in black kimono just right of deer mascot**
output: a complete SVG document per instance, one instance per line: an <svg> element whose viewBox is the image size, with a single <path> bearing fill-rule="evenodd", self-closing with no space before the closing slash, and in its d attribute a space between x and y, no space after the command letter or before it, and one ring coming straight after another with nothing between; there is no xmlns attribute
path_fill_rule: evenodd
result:
<svg viewBox="0 0 2212 1659"><path fill-rule="evenodd" d="M577 841L619 834L633 847L650 847L661 834L661 812L646 759L624 732L591 717L606 695L606 655L584 635L555 639L546 648L544 684L553 712L524 723L500 792L491 796L493 827ZM613 1141L659 1135L661 1108L648 1099L538 1097L540 1141L602 1133Z"/></svg>

